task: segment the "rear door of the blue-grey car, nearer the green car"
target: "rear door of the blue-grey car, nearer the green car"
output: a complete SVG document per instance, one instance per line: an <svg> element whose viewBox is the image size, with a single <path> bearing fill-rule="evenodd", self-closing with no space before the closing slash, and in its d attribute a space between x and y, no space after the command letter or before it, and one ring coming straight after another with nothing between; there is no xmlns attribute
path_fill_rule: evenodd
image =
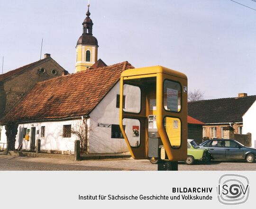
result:
<svg viewBox="0 0 256 209"><path fill-rule="evenodd" d="M213 159L225 159L225 142L223 140L212 140L208 152Z"/></svg>

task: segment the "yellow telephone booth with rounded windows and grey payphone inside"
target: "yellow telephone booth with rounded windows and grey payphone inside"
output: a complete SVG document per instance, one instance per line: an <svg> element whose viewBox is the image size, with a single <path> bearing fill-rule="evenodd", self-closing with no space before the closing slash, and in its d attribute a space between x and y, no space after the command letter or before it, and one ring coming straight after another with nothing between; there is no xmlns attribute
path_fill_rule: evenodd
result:
<svg viewBox="0 0 256 209"><path fill-rule="evenodd" d="M134 159L158 159L158 170L177 170L177 161L186 159L187 77L183 73L162 66L125 70L120 78L119 116Z"/></svg>

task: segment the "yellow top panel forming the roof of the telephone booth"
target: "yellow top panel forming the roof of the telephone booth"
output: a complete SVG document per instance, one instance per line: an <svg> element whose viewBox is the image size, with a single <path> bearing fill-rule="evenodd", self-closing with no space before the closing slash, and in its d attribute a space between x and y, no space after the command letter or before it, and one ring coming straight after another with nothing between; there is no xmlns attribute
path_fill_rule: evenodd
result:
<svg viewBox="0 0 256 209"><path fill-rule="evenodd" d="M181 72L178 72L176 70L171 70L171 69L165 68L165 67L160 66L160 65L152 66L152 67L134 68L134 69L125 70L125 71L122 72L121 77L143 76L143 75L145 75L145 77L149 77L149 76L146 76L146 75L152 75L153 76L156 73L164 73L164 74L175 76L175 77L178 77L178 78L187 79L185 74L183 74Z"/></svg>

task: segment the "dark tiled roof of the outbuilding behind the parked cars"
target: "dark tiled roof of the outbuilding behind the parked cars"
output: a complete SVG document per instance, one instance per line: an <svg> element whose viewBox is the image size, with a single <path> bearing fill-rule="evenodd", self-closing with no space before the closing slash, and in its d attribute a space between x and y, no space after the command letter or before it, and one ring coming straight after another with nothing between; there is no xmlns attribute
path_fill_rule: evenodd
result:
<svg viewBox="0 0 256 209"><path fill-rule="evenodd" d="M188 103L188 115L204 123L242 122L256 95Z"/></svg>

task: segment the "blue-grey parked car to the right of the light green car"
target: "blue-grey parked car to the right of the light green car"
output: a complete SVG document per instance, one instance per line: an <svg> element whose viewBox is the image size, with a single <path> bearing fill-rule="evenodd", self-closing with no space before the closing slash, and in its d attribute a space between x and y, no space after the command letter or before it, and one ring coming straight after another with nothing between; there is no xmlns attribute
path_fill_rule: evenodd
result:
<svg viewBox="0 0 256 209"><path fill-rule="evenodd" d="M248 148L233 139L209 139L199 145L208 149L212 159L245 159L255 162L256 148Z"/></svg>

